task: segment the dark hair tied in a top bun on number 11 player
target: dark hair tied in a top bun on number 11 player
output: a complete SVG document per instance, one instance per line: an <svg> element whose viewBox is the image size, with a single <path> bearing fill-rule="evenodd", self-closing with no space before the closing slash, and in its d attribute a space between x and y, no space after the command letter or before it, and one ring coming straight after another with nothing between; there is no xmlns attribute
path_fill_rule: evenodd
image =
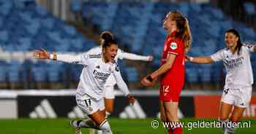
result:
<svg viewBox="0 0 256 134"><path fill-rule="evenodd" d="M100 35L101 39L103 40L102 42L102 47L110 47L110 44L116 44L116 39L114 39L112 33L110 33L109 31L103 31Z"/></svg>

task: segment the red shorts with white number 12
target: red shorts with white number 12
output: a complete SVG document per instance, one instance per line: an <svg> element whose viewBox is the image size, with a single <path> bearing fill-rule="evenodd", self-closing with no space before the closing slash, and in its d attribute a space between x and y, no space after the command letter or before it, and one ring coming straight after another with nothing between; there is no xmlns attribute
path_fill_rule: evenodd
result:
<svg viewBox="0 0 256 134"><path fill-rule="evenodd" d="M162 84L159 90L159 99L164 102L178 102L179 95L183 86L174 86L173 84Z"/></svg>

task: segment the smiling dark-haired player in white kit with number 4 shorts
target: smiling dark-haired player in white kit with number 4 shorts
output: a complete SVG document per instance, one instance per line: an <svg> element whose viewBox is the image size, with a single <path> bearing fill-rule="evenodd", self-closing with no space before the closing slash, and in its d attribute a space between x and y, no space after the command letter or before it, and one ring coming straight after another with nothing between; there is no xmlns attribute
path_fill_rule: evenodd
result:
<svg viewBox="0 0 256 134"><path fill-rule="evenodd" d="M225 32L225 42L227 48L219 50L214 55L194 58L187 56L187 60L202 64L217 61L224 63L227 74L219 104L219 120L238 122L252 97L254 81L250 52L256 52L256 47L252 44L242 44L239 33L235 29ZM222 130L224 134L232 134L235 127L223 127Z"/></svg>

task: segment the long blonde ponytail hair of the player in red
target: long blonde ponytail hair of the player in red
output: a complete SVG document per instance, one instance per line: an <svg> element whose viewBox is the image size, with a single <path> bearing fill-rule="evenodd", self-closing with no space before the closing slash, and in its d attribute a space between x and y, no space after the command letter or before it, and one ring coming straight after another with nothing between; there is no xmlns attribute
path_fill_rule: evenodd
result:
<svg viewBox="0 0 256 134"><path fill-rule="evenodd" d="M183 39L186 52L189 51L192 44L192 35L190 32L189 21L187 20L187 17L184 17L183 15L181 15L181 12L177 11L169 12L169 14L169 17L171 17L172 20L176 20L178 31L175 37Z"/></svg>

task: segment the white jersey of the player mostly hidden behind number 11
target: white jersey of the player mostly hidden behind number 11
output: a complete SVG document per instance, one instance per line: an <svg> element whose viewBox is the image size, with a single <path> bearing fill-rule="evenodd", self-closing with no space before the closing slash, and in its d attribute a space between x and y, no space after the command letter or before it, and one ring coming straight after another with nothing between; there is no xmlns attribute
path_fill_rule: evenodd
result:
<svg viewBox="0 0 256 134"><path fill-rule="evenodd" d="M97 52L102 52L102 47L94 47L91 50L87 51L86 54L90 55L92 53L97 53ZM121 49L118 49L117 51L117 55L115 58L115 61L117 63L118 59L129 59L129 60L144 60L144 61L148 61L149 60L149 56L140 56L140 55L135 55L132 53L128 53L128 52L124 52ZM112 74L110 74L105 86L114 86L116 84L116 79L114 78L114 76Z"/></svg>

